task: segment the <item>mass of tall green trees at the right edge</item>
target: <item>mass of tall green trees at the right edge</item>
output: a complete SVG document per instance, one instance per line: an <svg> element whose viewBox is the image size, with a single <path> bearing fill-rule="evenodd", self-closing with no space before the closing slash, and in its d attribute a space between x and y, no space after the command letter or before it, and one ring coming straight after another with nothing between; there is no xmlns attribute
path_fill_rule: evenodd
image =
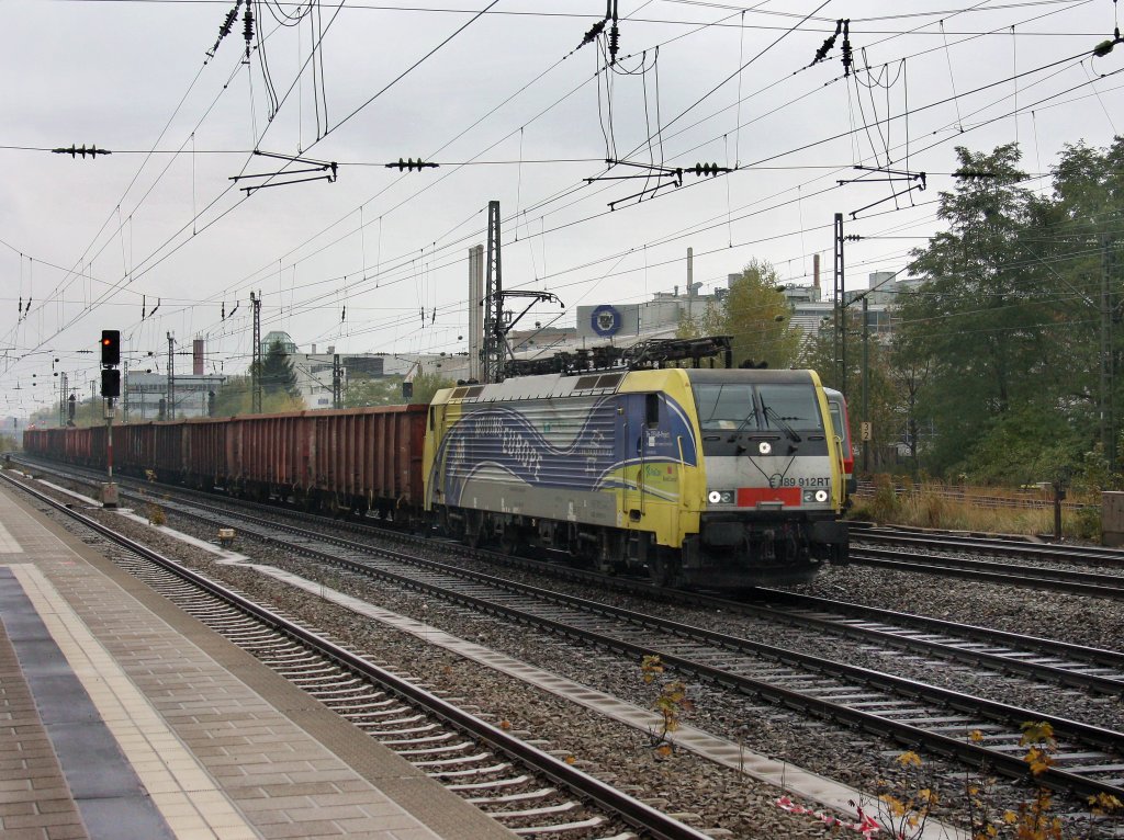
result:
<svg viewBox="0 0 1124 840"><path fill-rule="evenodd" d="M1086 454L1102 437L1097 326L1102 280L1118 272L1124 140L1067 146L1049 197L1023 186L1014 144L957 154L961 170L989 176L941 193L948 229L914 252L910 273L926 282L901 295L895 328L890 380L915 467L991 484L1071 472L1118 486L1109 458L1096 475ZM1118 281L1108 287L1118 294ZM1107 396L1120 407L1115 390Z"/></svg>

